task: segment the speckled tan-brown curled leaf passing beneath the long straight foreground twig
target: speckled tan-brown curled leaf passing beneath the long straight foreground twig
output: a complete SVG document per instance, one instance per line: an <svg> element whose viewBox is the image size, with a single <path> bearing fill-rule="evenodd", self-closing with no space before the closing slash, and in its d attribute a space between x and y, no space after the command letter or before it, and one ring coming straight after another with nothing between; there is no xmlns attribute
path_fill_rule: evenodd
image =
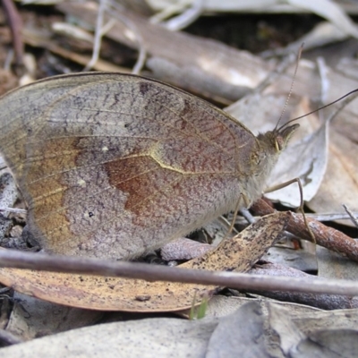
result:
<svg viewBox="0 0 358 358"><path fill-rule="evenodd" d="M181 267L244 272L274 242L286 226L288 217L289 213L261 217L217 250ZM0 268L0 281L23 294L53 303L108 311L179 311L190 308L194 297L200 303L201 297L210 297L217 288L15 268Z"/></svg>

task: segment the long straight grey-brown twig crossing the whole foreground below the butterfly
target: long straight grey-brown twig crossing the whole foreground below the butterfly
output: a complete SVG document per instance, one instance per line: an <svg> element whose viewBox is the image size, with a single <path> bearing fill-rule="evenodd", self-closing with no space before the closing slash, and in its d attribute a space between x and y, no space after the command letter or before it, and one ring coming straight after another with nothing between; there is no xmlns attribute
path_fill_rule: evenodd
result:
<svg viewBox="0 0 358 358"><path fill-rule="evenodd" d="M0 251L0 266L105 277L139 278L148 281L227 286L247 290L358 295L358 286L355 282L349 280L267 277L234 272L213 272L203 269L163 267L140 262L82 259L15 250Z"/></svg>

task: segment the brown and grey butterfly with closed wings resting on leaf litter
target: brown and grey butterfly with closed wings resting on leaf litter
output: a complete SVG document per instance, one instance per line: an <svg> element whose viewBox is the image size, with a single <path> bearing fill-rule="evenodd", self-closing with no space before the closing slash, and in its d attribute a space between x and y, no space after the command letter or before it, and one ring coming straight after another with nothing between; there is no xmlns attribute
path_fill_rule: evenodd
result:
<svg viewBox="0 0 358 358"><path fill-rule="evenodd" d="M298 124L255 137L159 81L91 72L0 98L0 149L46 251L131 259L257 200Z"/></svg>

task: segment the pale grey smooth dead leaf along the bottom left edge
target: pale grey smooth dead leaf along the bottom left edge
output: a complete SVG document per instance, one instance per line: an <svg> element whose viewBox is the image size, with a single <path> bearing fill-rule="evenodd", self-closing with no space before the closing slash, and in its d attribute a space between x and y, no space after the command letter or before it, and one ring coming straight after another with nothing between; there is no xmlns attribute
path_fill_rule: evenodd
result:
<svg viewBox="0 0 358 358"><path fill-rule="evenodd" d="M3 357L202 357L217 319L147 319L99 324L2 348Z"/></svg>

